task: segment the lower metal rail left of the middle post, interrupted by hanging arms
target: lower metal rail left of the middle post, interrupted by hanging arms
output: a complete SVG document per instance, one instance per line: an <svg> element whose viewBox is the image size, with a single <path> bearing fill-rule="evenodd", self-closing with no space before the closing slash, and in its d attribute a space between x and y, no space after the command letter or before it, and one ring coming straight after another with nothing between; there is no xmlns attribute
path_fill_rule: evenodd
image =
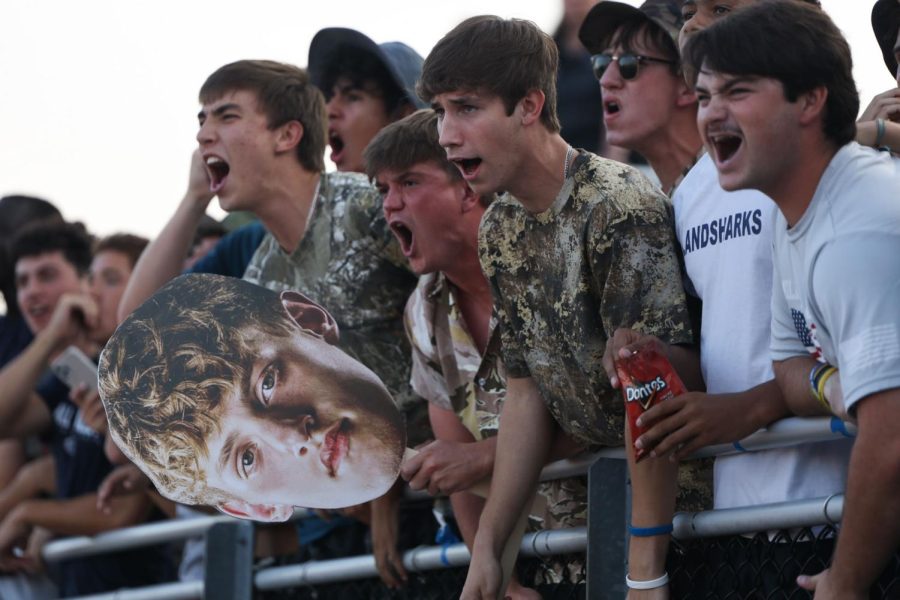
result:
<svg viewBox="0 0 900 600"><path fill-rule="evenodd" d="M522 537L520 548L523 556L584 552L587 548L587 528L573 527L530 533ZM465 544L453 544L446 548L422 546L403 554L403 566L411 573L433 571L462 567L469 564L470 559L471 555ZM271 567L257 573L254 583L258 590L277 590L370 577L378 577L378 569L375 567L375 558L367 555Z"/></svg>

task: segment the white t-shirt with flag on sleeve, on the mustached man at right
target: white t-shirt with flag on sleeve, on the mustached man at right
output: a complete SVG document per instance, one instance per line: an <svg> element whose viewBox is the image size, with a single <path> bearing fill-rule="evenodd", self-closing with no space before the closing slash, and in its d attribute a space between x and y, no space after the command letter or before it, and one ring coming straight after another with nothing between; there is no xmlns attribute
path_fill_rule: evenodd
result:
<svg viewBox="0 0 900 600"><path fill-rule="evenodd" d="M773 360L837 366L848 409L900 387L900 160L844 146L800 220L775 227Z"/></svg>

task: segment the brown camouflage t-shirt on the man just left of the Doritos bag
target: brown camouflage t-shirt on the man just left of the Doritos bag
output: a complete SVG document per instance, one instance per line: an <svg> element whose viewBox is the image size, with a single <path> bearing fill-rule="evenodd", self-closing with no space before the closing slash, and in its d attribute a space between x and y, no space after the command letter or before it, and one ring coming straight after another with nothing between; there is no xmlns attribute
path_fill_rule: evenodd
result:
<svg viewBox="0 0 900 600"><path fill-rule="evenodd" d="M507 194L482 219L507 373L530 376L581 443L623 443L624 402L602 365L613 331L692 341L667 204L635 169L582 152L546 211Z"/></svg>

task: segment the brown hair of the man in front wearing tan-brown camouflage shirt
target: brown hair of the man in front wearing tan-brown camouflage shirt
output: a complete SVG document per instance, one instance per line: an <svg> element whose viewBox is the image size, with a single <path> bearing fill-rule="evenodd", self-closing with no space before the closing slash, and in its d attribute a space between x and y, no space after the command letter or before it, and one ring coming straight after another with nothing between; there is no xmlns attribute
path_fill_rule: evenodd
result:
<svg viewBox="0 0 900 600"><path fill-rule="evenodd" d="M425 59L416 90L426 102L446 92L487 90L503 100L508 115L529 91L540 90L541 122L555 133L558 65L553 39L531 21L482 15L441 38Z"/></svg>

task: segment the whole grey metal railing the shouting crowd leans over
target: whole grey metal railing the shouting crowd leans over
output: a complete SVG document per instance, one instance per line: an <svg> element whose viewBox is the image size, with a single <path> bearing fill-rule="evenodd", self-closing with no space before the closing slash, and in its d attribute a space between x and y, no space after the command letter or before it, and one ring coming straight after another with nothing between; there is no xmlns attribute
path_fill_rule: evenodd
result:
<svg viewBox="0 0 900 600"><path fill-rule="evenodd" d="M791 418L779 421L766 430L756 432L739 443L704 448L694 456L717 456L771 449L799 443L852 437L854 434L855 429L851 425L837 419L827 417ZM621 577L624 565L617 564L617 559L609 559L611 555L615 555L624 561L625 519L621 517L623 507L626 506L627 474L624 461L620 460L624 457L623 448L611 448L596 454L582 455L548 465L542 472L542 480L583 475L588 472L589 477L604 478L606 484L603 486L603 493L594 496L592 492L592 497L589 499L589 517L586 528L529 534L523 538L522 542L523 556L545 556L548 552L551 554L580 553L586 549L587 568L588 572L592 574L588 579L588 597L591 598L620 597L624 594L623 578ZM600 460L604 458L616 460ZM616 480L620 480L622 485L609 485L610 482L614 483ZM610 506L615 507L615 510L608 510ZM842 509L843 497L838 495L747 508L679 513L674 520L674 536L680 539L691 539L711 535L835 523L840 520ZM298 515L302 514L302 512L298 512ZM48 562L55 562L177 541L201 535L216 524L234 523L235 521L225 516L199 517L141 525L102 533L94 537L68 538L48 544L44 548L43 556ZM600 530L602 530L602 535L598 533ZM605 556L601 556L598 553L600 551L596 549L592 552L589 545L589 540L592 538L604 540L602 553ZM617 539L623 540L623 542L619 544L615 541ZM467 565L468 561L469 553L463 544L417 548L404 555L404 566L410 572L460 567ZM250 569L250 565L247 565L247 569ZM376 576L374 558L369 555L270 567L260 570L254 575L253 585L258 590L275 590ZM593 585L591 579L594 581ZM603 593L595 593L597 590L603 590ZM184 582L120 590L85 598L90 598L90 600L142 600L160 597L188 599L202 598L204 593L203 582Z"/></svg>

